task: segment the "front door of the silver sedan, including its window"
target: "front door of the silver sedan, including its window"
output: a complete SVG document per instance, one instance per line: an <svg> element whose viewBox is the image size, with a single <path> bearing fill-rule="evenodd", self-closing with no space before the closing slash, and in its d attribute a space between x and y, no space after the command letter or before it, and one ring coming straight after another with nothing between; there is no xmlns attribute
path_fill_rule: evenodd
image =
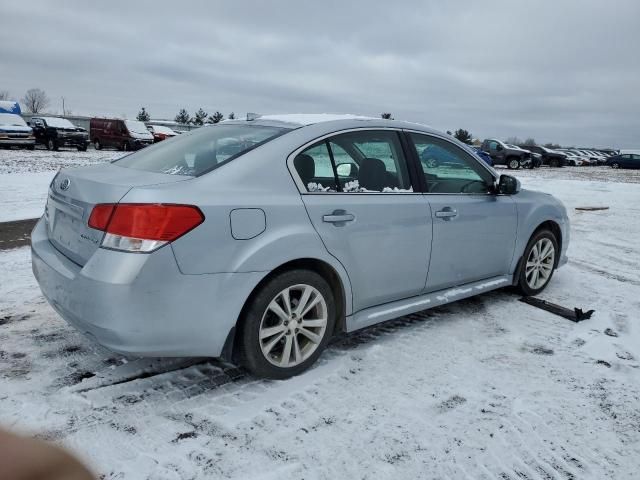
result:
<svg viewBox="0 0 640 480"><path fill-rule="evenodd" d="M493 175L454 143L420 133L408 137L420 159L433 222L425 291L507 274L516 240L513 199L489 193ZM437 158L425 158L423 151Z"/></svg>

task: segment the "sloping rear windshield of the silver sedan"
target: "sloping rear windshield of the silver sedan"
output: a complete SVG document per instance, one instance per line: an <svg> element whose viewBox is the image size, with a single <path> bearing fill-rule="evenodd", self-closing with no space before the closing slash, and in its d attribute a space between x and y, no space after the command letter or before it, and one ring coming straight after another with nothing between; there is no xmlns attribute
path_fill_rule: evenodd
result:
<svg viewBox="0 0 640 480"><path fill-rule="evenodd" d="M197 177L288 132L262 125L201 127L116 160L120 167Z"/></svg>

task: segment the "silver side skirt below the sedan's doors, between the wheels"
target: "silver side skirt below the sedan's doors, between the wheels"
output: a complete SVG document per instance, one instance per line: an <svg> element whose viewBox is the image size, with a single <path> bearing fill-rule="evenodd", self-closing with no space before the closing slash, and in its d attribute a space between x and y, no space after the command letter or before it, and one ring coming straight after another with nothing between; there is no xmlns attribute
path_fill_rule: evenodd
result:
<svg viewBox="0 0 640 480"><path fill-rule="evenodd" d="M375 325L394 318L402 317L410 313L419 312L428 308L437 307L446 303L473 297L480 293L489 292L498 288L512 285L512 275L501 275L478 282L468 283L457 287L446 288L437 292L426 293L416 297L397 300L375 307L366 308L349 315L346 318L347 332L353 332L361 328Z"/></svg>

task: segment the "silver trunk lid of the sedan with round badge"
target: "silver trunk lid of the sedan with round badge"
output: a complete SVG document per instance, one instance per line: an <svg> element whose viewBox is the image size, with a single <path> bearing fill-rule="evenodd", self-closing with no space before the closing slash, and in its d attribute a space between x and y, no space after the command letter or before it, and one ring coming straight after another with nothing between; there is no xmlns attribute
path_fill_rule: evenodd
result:
<svg viewBox="0 0 640 480"><path fill-rule="evenodd" d="M192 177L122 168L115 164L61 170L51 182L45 221L49 241L83 266L100 247L104 232L89 227L99 203L118 203L134 187L189 180Z"/></svg>

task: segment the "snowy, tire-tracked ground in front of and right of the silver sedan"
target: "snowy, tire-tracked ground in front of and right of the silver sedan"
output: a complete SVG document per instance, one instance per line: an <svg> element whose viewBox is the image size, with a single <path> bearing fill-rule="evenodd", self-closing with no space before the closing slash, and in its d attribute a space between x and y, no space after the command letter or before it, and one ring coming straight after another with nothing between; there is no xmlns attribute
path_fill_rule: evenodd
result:
<svg viewBox="0 0 640 480"><path fill-rule="evenodd" d="M492 292L338 340L280 382L110 353L45 303L28 249L0 252L0 425L105 479L637 478L640 185L582 171L515 173L572 220L541 297L592 319Z"/></svg>

